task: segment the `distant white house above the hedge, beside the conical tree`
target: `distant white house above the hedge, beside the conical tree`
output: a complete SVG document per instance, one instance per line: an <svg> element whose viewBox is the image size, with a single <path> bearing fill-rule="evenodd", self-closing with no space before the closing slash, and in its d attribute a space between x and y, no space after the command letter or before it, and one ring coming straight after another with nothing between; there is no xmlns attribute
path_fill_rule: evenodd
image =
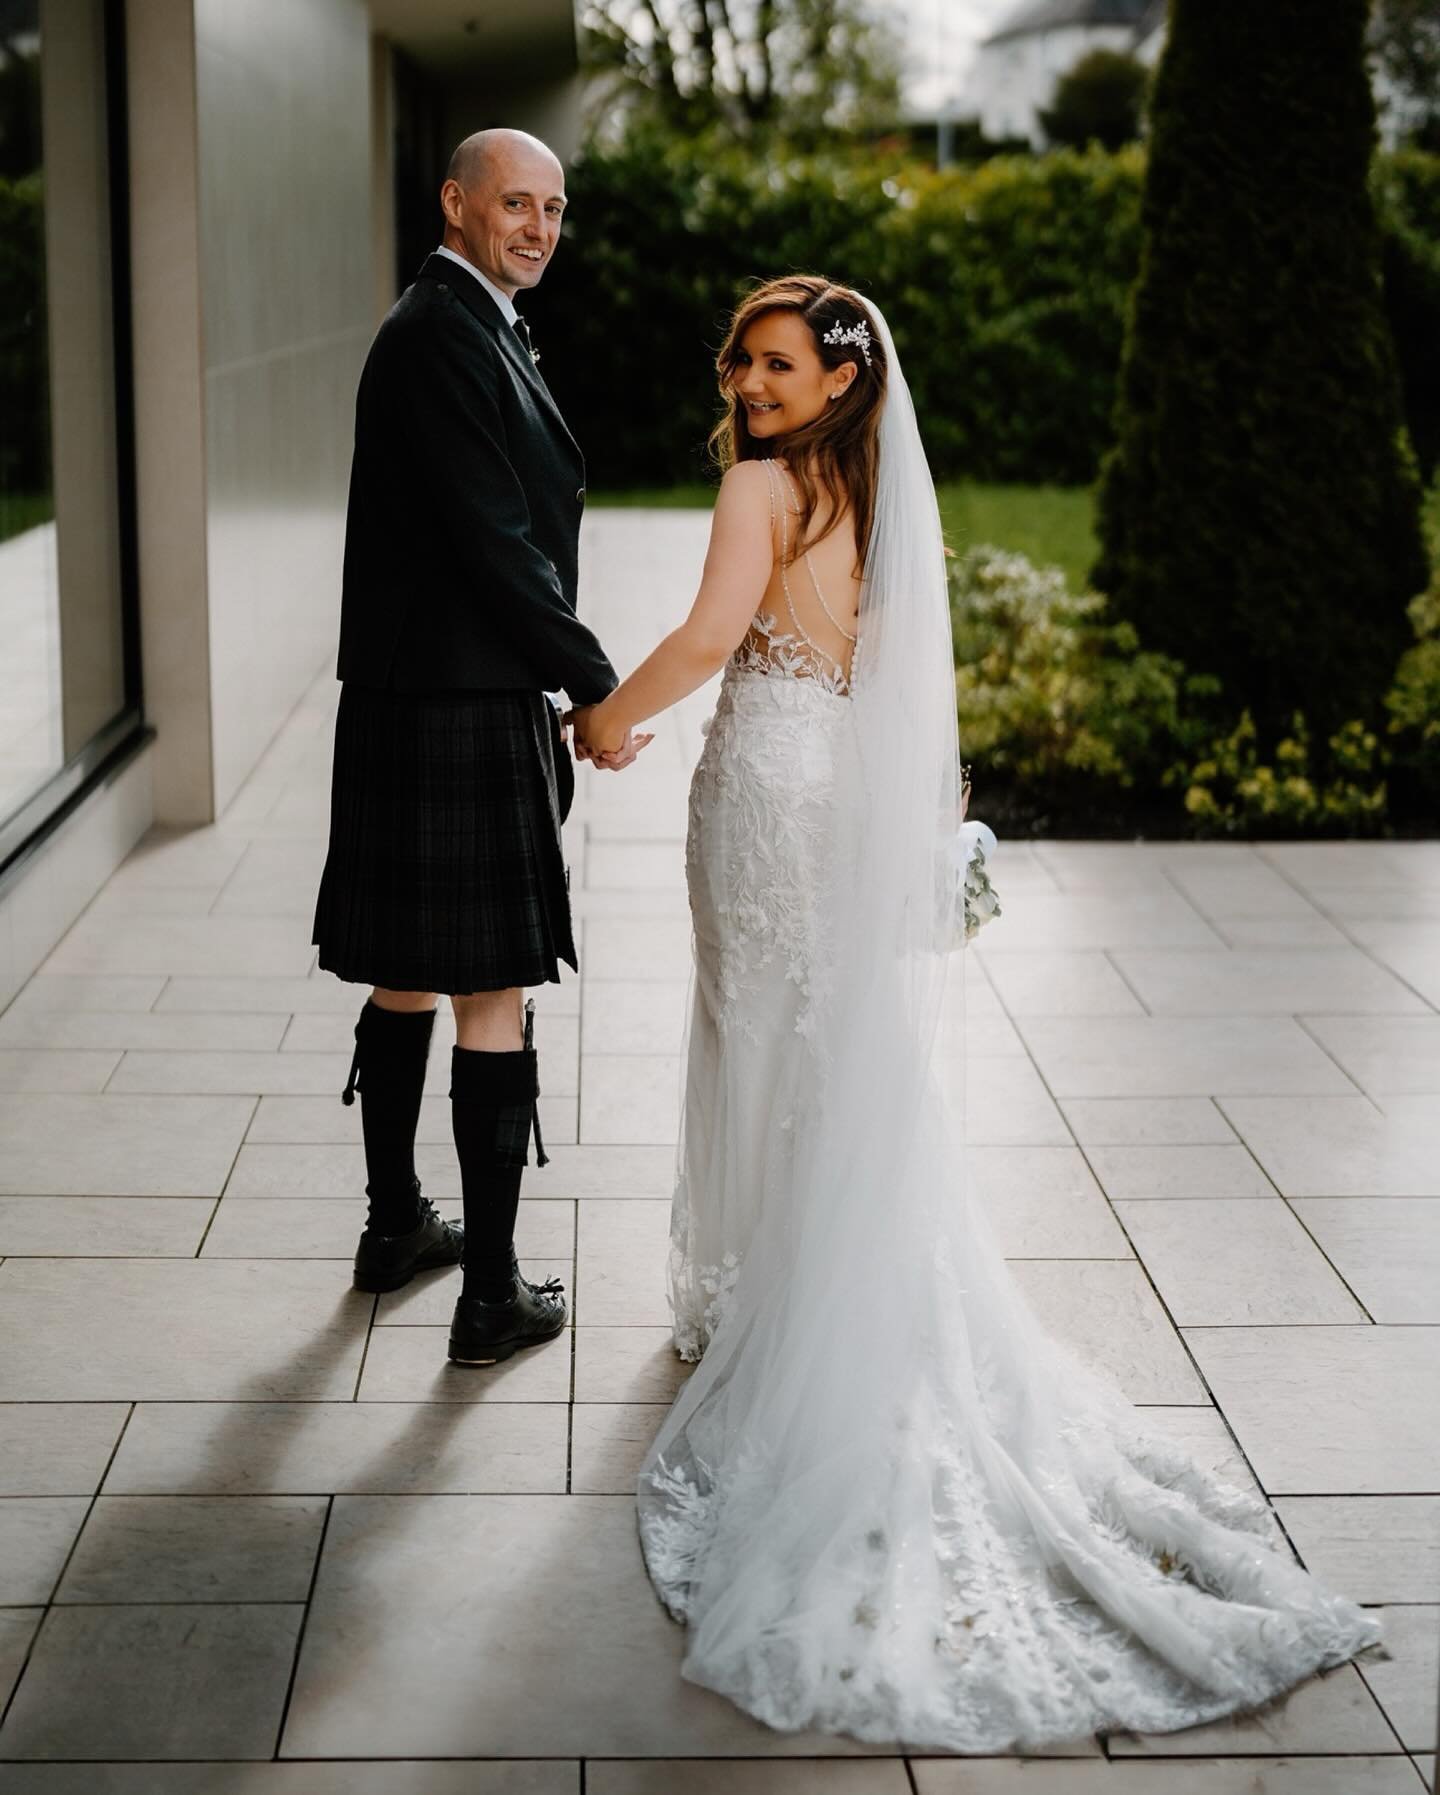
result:
<svg viewBox="0 0 1440 1795"><path fill-rule="evenodd" d="M1023 136L1041 149L1040 113L1056 81L1090 50L1126 50L1155 66L1165 43L1165 0L1023 0L980 43L957 111L988 138Z"/></svg>

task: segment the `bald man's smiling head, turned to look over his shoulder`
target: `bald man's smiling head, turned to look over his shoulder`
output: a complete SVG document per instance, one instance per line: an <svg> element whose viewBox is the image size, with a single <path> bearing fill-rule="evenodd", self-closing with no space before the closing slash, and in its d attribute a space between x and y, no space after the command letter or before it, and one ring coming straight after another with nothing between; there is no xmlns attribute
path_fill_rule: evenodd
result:
<svg viewBox="0 0 1440 1795"><path fill-rule="evenodd" d="M445 248L515 294L539 284L560 241L566 171L526 131L476 131L440 187Z"/></svg>

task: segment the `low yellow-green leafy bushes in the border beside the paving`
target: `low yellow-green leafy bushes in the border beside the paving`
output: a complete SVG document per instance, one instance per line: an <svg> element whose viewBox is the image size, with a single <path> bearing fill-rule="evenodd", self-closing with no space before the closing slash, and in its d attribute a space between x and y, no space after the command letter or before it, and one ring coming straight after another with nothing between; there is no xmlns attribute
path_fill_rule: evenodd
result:
<svg viewBox="0 0 1440 1795"><path fill-rule="evenodd" d="M1316 738L1296 713L1269 741L1219 680L1110 623L1097 592L975 547L952 567L961 745L991 810L1049 827L1099 817L1153 833L1374 835L1388 824L1395 734L1418 775L1440 777L1440 609L1426 603L1386 700L1390 740L1361 720Z"/></svg>

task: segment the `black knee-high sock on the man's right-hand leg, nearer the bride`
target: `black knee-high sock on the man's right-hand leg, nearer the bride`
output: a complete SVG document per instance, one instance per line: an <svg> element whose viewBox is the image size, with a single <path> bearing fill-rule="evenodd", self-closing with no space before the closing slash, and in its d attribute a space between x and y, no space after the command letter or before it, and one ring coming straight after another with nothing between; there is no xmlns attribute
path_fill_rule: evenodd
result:
<svg viewBox="0 0 1440 1795"><path fill-rule="evenodd" d="M451 1125L465 1197L463 1296L503 1303L514 1294L515 1213L540 1093L535 1050L451 1055Z"/></svg>

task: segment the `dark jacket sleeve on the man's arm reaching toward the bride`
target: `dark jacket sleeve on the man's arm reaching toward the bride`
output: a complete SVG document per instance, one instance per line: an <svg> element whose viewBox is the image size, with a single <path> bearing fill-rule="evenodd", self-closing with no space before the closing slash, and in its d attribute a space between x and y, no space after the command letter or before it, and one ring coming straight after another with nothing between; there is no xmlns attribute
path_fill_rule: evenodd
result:
<svg viewBox="0 0 1440 1795"><path fill-rule="evenodd" d="M505 440L499 350L467 341L456 354L447 337L409 332L404 354L391 361L397 424L488 621L535 668L540 686L564 687L575 704L596 704L614 691L616 671L531 540L530 504Z"/></svg>

